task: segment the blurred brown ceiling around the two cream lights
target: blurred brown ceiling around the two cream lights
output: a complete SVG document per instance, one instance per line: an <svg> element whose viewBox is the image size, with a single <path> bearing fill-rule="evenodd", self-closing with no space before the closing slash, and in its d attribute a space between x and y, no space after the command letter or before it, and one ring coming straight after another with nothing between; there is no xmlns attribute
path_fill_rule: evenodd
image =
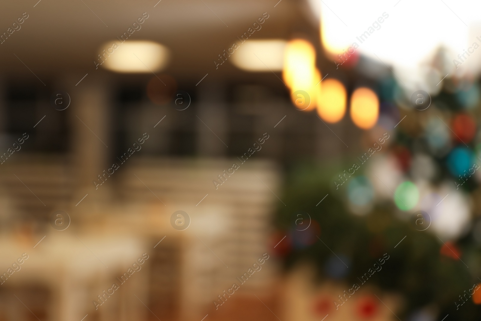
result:
<svg viewBox="0 0 481 321"><path fill-rule="evenodd" d="M264 13L268 19L252 39L289 39L296 32L317 37L316 27L304 14L303 1L37 1L1 5L1 33L7 32L23 13L28 14L21 28L0 45L4 74L31 76L33 72L55 77L65 73L106 73L95 69L97 50L104 42L120 37L143 13L148 14L148 19L130 39L166 45L172 53L167 72L192 79L206 73L213 77L245 75L231 64L216 70L214 61Z"/></svg>

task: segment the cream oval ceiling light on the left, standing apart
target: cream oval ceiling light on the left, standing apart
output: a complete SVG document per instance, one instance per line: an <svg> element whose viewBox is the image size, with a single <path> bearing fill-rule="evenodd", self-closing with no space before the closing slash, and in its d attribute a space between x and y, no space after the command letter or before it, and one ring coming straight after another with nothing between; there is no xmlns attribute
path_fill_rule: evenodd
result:
<svg viewBox="0 0 481 321"><path fill-rule="evenodd" d="M152 73L167 65L168 56L168 49L157 42L114 40L101 47L96 62L119 73Z"/></svg>

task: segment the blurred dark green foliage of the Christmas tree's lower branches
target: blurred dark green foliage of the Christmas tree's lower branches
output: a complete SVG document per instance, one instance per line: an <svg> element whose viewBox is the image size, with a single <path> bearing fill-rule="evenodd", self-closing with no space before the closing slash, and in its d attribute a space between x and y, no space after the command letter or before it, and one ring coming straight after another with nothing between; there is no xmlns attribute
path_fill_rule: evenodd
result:
<svg viewBox="0 0 481 321"><path fill-rule="evenodd" d="M366 284L401 294L405 299L403 316L429 305L437 307L441 318L449 314L451 320L481 320L481 307L471 299L457 310L455 304L462 302L459 295L465 290L468 292L474 283L481 282L476 272L480 266L480 251L471 237L456 243L468 268L461 260L440 254L443 243L430 233L432 229L418 231L413 222L398 218L395 215L398 210L392 202L377 204L363 217L349 213L344 191L328 188L333 183L328 181L330 177L326 173L333 172L336 171L332 167L313 165L290 170L281 197L286 206L279 206L275 218L277 228L282 235L289 235L287 242L291 243L281 255L286 270L300 262L309 262L316 268L317 281L332 278L332 273L329 276L326 269L329 259L332 261L334 256L332 250L349 262L346 262L349 266L346 274L338 281L361 285L358 278L387 253L390 257L382 265L382 270L375 272ZM296 231L298 211L307 212L318 223L320 232L316 231L315 223L306 231ZM299 233L309 231L315 240L299 246L296 242Z"/></svg>

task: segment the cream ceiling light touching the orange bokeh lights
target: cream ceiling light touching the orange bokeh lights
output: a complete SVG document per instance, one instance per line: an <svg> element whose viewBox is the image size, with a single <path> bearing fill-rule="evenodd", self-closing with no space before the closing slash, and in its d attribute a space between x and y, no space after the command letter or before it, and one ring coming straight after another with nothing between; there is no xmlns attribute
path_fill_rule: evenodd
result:
<svg viewBox="0 0 481 321"><path fill-rule="evenodd" d="M287 41L248 40L231 57L232 64L246 71L281 71Z"/></svg>

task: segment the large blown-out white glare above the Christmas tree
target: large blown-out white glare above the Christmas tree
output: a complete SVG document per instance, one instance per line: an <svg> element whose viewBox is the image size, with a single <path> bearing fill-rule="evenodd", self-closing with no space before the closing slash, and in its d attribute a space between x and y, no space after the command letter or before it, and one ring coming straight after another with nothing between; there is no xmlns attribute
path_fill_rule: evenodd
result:
<svg viewBox="0 0 481 321"><path fill-rule="evenodd" d="M469 77L481 71L481 1L307 1L320 18L326 51L339 59L356 43L356 52L394 66L394 77L406 89L434 92L448 73ZM440 49L444 57L435 59ZM461 60L464 50L469 56Z"/></svg>

